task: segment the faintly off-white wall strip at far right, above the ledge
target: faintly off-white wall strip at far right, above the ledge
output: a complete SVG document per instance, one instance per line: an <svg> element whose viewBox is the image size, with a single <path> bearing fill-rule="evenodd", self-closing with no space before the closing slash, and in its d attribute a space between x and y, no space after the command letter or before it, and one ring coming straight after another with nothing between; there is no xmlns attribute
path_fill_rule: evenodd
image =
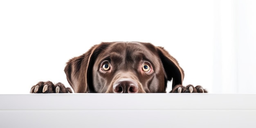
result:
<svg viewBox="0 0 256 128"><path fill-rule="evenodd" d="M213 92L255 93L256 1L214 1Z"/></svg>

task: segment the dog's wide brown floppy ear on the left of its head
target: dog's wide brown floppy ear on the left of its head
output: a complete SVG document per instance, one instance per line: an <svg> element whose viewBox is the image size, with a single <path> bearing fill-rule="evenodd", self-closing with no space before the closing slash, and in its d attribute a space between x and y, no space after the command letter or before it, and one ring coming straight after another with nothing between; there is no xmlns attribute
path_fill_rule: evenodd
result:
<svg viewBox="0 0 256 128"><path fill-rule="evenodd" d="M94 92L94 88L92 88L92 67L99 53L109 44L94 45L85 54L74 57L67 62L64 72L74 92Z"/></svg>

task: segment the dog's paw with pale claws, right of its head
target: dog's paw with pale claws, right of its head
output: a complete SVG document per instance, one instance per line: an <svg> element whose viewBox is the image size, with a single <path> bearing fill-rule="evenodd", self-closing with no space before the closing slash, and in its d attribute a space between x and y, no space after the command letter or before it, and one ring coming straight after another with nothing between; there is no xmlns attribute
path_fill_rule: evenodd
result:
<svg viewBox="0 0 256 128"><path fill-rule="evenodd" d="M186 87L183 85L176 85L170 93L207 93L207 90L202 88L202 86L193 86L187 85Z"/></svg>

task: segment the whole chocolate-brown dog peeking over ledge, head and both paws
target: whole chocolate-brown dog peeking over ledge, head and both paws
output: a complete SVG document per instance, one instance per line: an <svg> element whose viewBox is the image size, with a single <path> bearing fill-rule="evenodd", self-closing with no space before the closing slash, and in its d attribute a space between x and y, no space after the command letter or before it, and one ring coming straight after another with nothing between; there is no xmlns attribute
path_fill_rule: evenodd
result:
<svg viewBox="0 0 256 128"><path fill-rule="evenodd" d="M164 47L142 42L103 42L74 57L64 69L75 93L207 93L202 86L182 85L184 71ZM38 82L30 93L69 93L62 83Z"/></svg>

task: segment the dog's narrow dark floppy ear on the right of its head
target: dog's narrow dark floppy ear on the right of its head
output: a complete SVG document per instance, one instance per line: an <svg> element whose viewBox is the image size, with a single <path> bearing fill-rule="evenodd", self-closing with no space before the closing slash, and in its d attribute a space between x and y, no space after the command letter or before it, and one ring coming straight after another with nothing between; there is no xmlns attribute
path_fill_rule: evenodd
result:
<svg viewBox="0 0 256 128"><path fill-rule="evenodd" d="M171 56L163 47L157 47L157 52L164 66L166 80L173 80L172 88L178 84L182 85L182 81L184 79L184 71L180 67L177 60L173 58L173 56Z"/></svg>

